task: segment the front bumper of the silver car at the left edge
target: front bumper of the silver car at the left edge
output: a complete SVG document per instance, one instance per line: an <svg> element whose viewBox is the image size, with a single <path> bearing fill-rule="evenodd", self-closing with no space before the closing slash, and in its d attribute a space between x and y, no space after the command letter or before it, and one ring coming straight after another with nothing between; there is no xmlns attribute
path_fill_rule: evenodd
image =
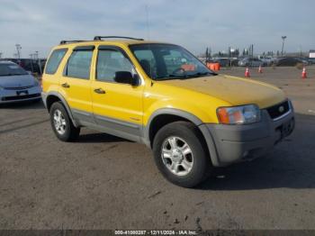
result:
<svg viewBox="0 0 315 236"><path fill-rule="evenodd" d="M0 91L0 104L11 104L23 101L40 99L40 86L32 86L22 90L2 89Z"/></svg>

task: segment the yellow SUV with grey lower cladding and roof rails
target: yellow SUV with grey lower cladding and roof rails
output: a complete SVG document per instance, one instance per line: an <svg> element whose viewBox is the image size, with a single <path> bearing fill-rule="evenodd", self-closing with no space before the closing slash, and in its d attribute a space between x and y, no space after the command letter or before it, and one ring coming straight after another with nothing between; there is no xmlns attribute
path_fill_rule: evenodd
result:
<svg viewBox="0 0 315 236"><path fill-rule="evenodd" d="M213 167L262 156L294 128L282 90L218 75L168 43L61 41L42 86L59 140L73 141L89 127L144 143L178 186L196 186Z"/></svg>

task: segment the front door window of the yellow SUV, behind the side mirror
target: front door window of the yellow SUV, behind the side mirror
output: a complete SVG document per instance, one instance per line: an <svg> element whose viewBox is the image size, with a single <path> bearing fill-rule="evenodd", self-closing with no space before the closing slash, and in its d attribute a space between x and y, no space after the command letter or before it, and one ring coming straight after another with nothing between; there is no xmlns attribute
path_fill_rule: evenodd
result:
<svg viewBox="0 0 315 236"><path fill-rule="evenodd" d="M117 71L135 74L130 60L120 50L99 50L97 57L96 79L114 82Z"/></svg>

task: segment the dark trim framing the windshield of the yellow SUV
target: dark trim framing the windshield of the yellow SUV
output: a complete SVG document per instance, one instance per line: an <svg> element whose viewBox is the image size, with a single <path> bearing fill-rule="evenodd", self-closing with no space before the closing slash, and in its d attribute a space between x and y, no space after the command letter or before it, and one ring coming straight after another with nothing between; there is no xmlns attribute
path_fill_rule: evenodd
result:
<svg viewBox="0 0 315 236"><path fill-rule="evenodd" d="M176 47L176 48L179 48L179 49L181 49L181 50L184 50L184 52L186 52L186 53L188 53L190 56L192 56L193 59L196 59L197 61L199 61L199 62L202 64L202 66L208 70L208 71L207 71L207 72L209 72L208 75L204 75L204 76L196 76L196 75L195 75L195 76L193 76L193 75L190 75L190 74L185 74L185 75L183 75L183 76L178 75L178 76L176 76L176 77L158 77L158 78L157 78L157 77L156 77L156 78L150 77L150 76L147 74L147 72L144 70L144 68L142 68L142 66L141 66L141 64L140 64L140 62L139 62L139 59L138 59L137 56L134 54L134 51L132 50L132 48L137 47L137 46L148 46L148 49L149 49L149 47L150 47L151 45L167 45L167 46L174 46L174 47ZM206 77L206 76L210 76L210 75L212 75L212 76L218 75L217 73L215 73L214 71L212 71L210 68L207 68L206 65L204 65L203 62L202 62L200 59L198 59L197 57L195 57L192 52L190 52L189 50L184 49L184 47L182 47L182 46L179 46L179 45L176 45L176 44L173 44L173 43L165 43L165 42L134 43L134 44L130 44L130 45L129 45L129 50L130 50L132 56L137 60L137 62L139 63L139 66L142 68L142 70L143 70L144 73L147 75L147 77L149 77L150 79L152 79L152 80L154 80L154 81L162 81L162 80L164 81L164 80L172 80L172 79L189 79L189 78L194 78L194 77ZM198 73L196 73L196 74L198 74Z"/></svg>

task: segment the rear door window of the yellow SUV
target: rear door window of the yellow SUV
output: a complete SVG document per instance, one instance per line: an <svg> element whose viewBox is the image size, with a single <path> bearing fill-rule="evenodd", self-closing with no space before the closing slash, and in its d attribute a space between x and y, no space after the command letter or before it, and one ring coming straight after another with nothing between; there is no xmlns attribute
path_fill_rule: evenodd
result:
<svg viewBox="0 0 315 236"><path fill-rule="evenodd" d="M90 78L93 50L74 50L67 60L66 76Z"/></svg>

